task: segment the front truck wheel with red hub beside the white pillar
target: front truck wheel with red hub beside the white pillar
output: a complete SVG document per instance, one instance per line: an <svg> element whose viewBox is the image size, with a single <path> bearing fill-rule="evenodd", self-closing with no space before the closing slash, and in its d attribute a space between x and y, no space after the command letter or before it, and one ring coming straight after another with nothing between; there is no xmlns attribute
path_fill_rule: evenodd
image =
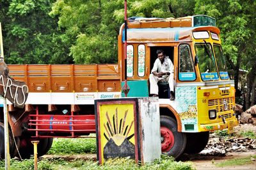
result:
<svg viewBox="0 0 256 170"><path fill-rule="evenodd" d="M161 149L177 159L186 147L186 135L177 131L177 122L174 118L162 115L161 124Z"/></svg>

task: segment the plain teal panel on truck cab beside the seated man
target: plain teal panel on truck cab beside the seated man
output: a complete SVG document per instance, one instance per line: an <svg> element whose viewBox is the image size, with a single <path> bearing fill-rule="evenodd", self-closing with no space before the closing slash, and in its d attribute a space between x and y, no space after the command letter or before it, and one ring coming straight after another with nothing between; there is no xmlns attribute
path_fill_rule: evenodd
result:
<svg viewBox="0 0 256 170"><path fill-rule="evenodd" d="M130 87L127 97L148 97L148 80L127 81L127 84ZM124 81L122 81L123 86ZM124 92L122 97L125 97Z"/></svg>

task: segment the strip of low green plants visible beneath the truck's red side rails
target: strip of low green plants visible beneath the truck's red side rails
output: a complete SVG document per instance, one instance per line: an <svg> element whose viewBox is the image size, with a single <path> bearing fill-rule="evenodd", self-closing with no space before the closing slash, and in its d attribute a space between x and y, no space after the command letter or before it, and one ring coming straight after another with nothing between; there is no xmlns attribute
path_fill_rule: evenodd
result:
<svg viewBox="0 0 256 170"><path fill-rule="evenodd" d="M54 139L52 147L48 154L78 154L78 153L96 153L95 138L76 138L76 139Z"/></svg>

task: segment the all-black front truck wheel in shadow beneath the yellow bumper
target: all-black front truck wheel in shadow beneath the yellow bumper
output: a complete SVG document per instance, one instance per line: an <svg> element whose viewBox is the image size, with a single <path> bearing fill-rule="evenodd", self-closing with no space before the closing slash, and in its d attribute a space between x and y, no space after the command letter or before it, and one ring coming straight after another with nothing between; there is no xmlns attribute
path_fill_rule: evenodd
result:
<svg viewBox="0 0 256 170"><path fill-rule="evenodd" d="M209 141L209 132L187 133L187 145L184 153L199 153Z"/></svg>

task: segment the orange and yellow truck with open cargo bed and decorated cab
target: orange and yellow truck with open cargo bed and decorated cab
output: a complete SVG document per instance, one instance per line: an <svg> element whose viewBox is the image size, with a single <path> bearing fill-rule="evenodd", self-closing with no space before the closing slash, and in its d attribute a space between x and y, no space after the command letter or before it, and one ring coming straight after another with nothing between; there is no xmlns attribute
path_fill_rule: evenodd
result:
<svg viewBox="0 0 256 170"><path fill-rule="evenodd" d="M8 65L12 78L26 82L29 89L24 108L8 103L11 157L17 156L18 148L22 158L29 158L33 154L31 140L40 141L38 156L42 156L51 148L53 138L83 138L95 133L95 99L125 97L125 83L129 86L127 97L150 97L148 78L158 49L172 60L175 82L174 101L168 83L158 85L162 152L175 158L199 153L207 145L209 132L232 132L239 122L234 81L228 76L214 18L131 17L126 48L124 27L121 25L118 35L118 64ZM1 139L2 120L3 110ZM1 140L2 158L3 147Z"/></svg>

